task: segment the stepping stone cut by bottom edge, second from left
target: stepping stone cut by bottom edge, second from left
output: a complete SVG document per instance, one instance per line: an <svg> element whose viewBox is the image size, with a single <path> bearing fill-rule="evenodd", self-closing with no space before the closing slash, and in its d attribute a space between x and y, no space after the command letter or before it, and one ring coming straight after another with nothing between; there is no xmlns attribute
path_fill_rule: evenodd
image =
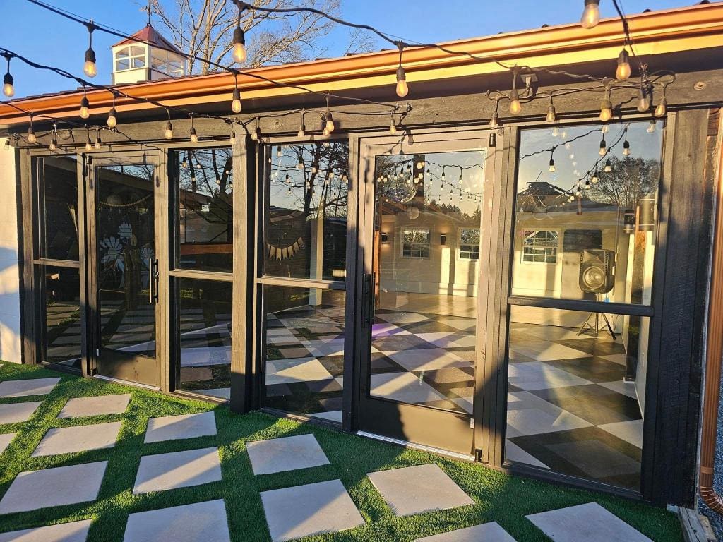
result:
<svg viewBox="0 0 723 542"><path fill-rule="evenodd" d="M230 542L223 499L128 516L123 542L158 541Z"/></svg>

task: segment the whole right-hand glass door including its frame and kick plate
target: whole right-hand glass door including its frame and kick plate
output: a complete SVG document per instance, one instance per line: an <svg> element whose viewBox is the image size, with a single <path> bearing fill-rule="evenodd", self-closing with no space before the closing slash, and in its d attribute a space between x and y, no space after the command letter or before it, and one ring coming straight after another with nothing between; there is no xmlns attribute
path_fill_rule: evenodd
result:
<svg viewBox="0 0 723 542"><path fill-rule="evenodd" d="M472 455L489 133L423 139L366 147L359 429Z"/></svg>

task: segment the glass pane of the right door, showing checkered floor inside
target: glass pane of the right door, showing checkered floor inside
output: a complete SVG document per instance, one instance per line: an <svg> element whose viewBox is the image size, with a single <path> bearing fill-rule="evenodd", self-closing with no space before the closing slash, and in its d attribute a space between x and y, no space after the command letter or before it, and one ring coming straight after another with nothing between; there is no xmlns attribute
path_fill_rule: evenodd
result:
<svg viewBox="0 0 723 542"><path fill-rule="evenodd" d="M374 397L472 412L485 156L376 158Z"/></svg>

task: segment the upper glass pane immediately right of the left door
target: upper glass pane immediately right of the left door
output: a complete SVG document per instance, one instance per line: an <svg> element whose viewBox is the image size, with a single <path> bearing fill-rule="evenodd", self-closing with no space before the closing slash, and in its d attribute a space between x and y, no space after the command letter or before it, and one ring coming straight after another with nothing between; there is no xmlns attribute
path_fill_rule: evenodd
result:
<svg viewBox="0 0 723 542"><path fill-rule="evenodd" d="M174 151L176 268L233 270L233 150Z"/></svg>

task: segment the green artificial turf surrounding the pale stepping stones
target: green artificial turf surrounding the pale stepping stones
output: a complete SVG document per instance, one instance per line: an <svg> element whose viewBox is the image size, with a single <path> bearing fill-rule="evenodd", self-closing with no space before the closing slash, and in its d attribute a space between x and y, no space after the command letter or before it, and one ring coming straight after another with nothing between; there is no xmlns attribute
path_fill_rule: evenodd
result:
<svg viewBox="0 0 723 542"><path fill-rule="evenodd" d="M0 425L0 433L18 433L0 455L0 495L7 491L15 476L24 470L108 460L98 500L3 515L0 516L0 532L92 518L88 541L121 542L127 517L133 512L222 498L226 502L232 541L268 541L270 537L260 491L338 478L364 516L366 525L343 533L304 538L304 541L411 542L422 536L489 521L500 523L519 542L545 541L547 538L526 520L526 515L593 501L602 504L654 541L683 540L675 515L640 502L508 476L482 465L445 459L262 413L241 416L223 406L184 400L98 379L82 379L39 366L0 366L0 380L59 376L62 377L61 382L51 394L43 398L43 404L30 421ZM132 393L132 400L122 415L66 420L56 418L70 397L127 392ZM26 400L40 398L0 399L0 403ZM148 418L205 410L214 410L218 436L143 444ZM116 420L122 420L123 424L114 448L54 457L30 457L51 427ZM253 475L246 442L306 433L316 436L330 465L290 473ZM132 494L142 455L210 446L218 446L221 450L223 481L145 495ZM442 512L395 517L366 474L374 470L425 463L440 465L476 504Z"/></svg>

